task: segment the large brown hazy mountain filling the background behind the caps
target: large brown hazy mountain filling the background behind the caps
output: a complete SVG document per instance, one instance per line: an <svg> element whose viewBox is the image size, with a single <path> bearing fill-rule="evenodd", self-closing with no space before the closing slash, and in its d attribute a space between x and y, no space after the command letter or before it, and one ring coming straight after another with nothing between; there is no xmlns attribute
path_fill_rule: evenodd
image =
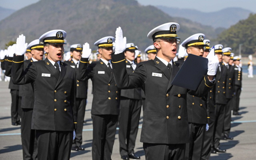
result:
<svg viewBox="0 0 256 160"><path fill-rule="evenodd" d="M216 38L216 32L220 32L184 18L171 17L153 6L141 6L136 0L41 0L0 21L0 47L16 40L20 34L24 34L29 43L49 30L62 29L67 32L66 42L88 42L95 50L96 40L115 36L120 26L127 42L144 50L152 44L147 38L148 32L167 22L180 24L178 36L182 40L201 32L209 39Z"/></svg>

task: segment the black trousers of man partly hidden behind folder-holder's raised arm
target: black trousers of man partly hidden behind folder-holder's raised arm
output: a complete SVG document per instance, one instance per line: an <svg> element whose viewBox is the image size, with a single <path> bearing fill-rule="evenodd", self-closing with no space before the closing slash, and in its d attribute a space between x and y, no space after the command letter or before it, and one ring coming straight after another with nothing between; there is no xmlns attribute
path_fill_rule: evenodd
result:
<svg viewBox="0 0 256 160"><path fill-rule="evenodd" d="M141 100L121 97L119 118L120 155L134 153L136 136L140 120Z"/></svg>

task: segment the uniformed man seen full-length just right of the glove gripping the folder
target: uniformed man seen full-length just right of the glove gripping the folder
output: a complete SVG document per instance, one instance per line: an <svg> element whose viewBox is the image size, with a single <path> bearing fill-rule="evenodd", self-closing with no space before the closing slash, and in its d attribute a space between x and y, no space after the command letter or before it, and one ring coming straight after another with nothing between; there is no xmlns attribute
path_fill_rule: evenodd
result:
<svg viewBox="0 0 256 160"><path fill-rule="evenodd" d="M222 48L221 44L214 46L215 55L218 56L219 65L216 73L216 84L215 84L215 122L214 122L214 134L213 134L213 145L212 153L226 152L226 150L220 149L220 138L223 130L225 106L227 104L226 99L226 79L228 74L228 68L222 62Z"/></svg>

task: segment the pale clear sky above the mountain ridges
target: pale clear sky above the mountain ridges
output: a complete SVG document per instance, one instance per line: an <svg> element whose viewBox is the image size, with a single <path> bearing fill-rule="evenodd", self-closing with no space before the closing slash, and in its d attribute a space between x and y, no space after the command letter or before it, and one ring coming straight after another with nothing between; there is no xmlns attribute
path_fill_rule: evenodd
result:
<svg viewBox="0 0 256 160"><path fill-rule="evenodd" d="M19 10L39 0L0 0L0 6ZM240 7L256 13L256 0L137 0L142 5L190 8L201 12L215 12L228 7Z"/></svg>

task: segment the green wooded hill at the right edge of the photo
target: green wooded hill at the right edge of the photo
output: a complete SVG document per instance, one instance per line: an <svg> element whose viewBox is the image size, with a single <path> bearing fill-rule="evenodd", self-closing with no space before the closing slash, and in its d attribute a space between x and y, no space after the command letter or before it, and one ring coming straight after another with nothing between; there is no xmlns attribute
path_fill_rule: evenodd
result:
<svg viewBox="0 0 256 160"><path fill-rule="evenodd" d="M231 47L236 55L239 44L242 45L242 55L256 53L256 14L250 14L246 20L240 20L234 26L224 30L217 38L224 47Z"/></svg>

